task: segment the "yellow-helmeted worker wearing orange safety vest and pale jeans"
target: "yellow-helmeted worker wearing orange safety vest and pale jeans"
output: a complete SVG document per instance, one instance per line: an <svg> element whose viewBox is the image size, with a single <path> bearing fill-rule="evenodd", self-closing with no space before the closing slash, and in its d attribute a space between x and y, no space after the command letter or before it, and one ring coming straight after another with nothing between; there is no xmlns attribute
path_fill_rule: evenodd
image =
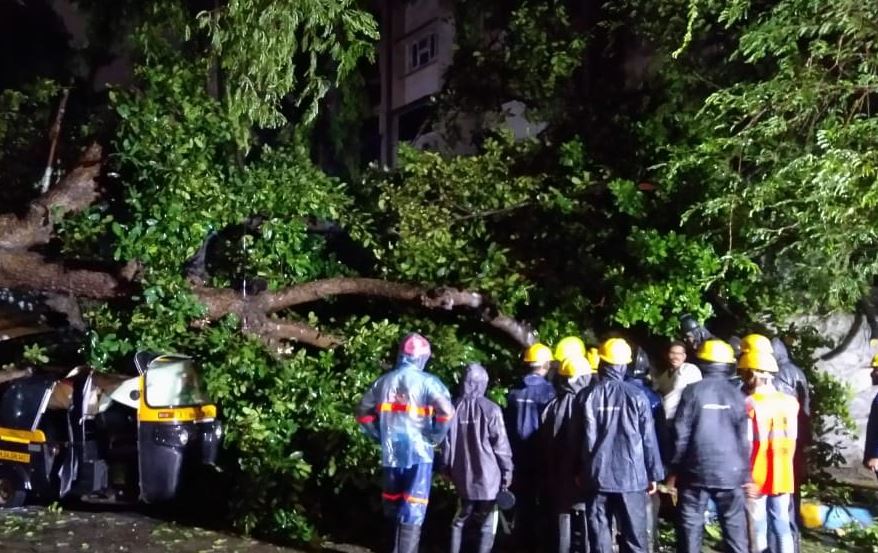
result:
<svg viewBox="0 0 878 553"><path fill-rule="evenodd" d="M794 553L790 504L795 491L793 456L799 402L775 388L775 358L752 350L741 355L738 366L751 372L753 393L747 397L752 483L747 486L748 512L754 553L768 550L768 529L778 539L778 553Z"/></svg>

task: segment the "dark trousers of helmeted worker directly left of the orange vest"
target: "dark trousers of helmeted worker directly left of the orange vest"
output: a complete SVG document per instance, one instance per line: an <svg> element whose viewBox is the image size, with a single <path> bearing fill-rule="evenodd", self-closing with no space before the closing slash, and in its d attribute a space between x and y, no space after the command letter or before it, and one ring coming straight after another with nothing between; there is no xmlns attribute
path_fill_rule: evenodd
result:
<svg viewBox="0 0 878 553"><path fill-rule="evenodd" d="M677 489L677 553L701 553L708 498L716 503L725 553L748 553L744 490L696 486Z"/></svg>

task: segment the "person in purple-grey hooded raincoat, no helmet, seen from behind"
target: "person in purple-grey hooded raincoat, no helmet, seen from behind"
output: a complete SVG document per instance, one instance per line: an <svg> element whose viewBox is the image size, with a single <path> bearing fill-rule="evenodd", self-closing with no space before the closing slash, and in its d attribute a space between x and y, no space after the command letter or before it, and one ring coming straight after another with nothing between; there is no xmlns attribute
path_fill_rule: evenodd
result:
<svg viewBox="0 0 878 553"><path fill-rule="evenodd" d="M451 553L490 553L497 494L512 482L512 449L500 406L485 397L488 372L470 363L442 448L443 471L460 496L451 523Z"/></svg>

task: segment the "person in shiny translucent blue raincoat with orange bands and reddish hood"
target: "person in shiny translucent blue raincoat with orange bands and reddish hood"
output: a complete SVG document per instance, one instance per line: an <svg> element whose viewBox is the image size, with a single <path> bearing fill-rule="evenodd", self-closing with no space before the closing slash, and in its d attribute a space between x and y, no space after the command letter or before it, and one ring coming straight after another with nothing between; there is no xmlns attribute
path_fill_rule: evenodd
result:
<svg viewBox="0 0 878 553"><path fill-rule="evenodd" d="M357 407L363 431L381 444L385 517L393 553L415 553L427 514L433 449L448 431L454 407L448 389L424 372L430 342L411 333L396 366L379 377Z"/></svg>

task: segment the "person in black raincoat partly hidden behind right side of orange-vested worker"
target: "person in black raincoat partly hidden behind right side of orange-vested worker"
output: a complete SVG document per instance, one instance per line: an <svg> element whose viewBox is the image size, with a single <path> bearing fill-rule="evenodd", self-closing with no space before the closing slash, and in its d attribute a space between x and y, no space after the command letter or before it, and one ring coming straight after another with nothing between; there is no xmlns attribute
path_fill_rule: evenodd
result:
<svg viewBox="0 0 878 553"><path fill-rule="evenodd" d="M799 402L799 431L796 436L796 453L793 457L793 474L796 482L796 492L790 501L790 529L793 532L793 545L798 553L801 546L799 524L801 522L800 507L802 496L799 486L807 478L807 464L805 462L805 448L811 445L811 391L808 388L808 379L805 373L790 359L787 346L780 338L771 339L771 348L774 358L777 360L778 373L774 376L774 386L781 392L796 398ZM771 551L779 551L780 545L772 534Z"/></svg>

